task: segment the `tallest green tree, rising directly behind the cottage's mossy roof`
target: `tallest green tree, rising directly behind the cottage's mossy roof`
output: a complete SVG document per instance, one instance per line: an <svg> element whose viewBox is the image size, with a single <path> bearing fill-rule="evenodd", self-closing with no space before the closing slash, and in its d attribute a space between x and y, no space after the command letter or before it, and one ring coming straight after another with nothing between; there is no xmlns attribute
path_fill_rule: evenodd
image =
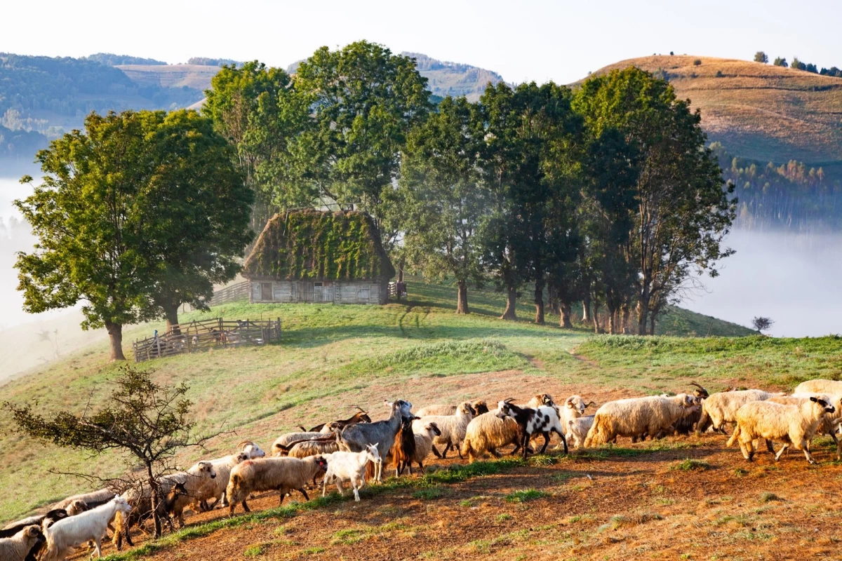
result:
<svg viewBox="0 0 842 561"><path fill-rule="evenodd" d="M380 227L408 132L431 108L426 78L412 58L358 41L317 50L298 66L295 88L312 110L312 129L299 139L313 161L306 179L344 208L369 212Z"/></svg>

